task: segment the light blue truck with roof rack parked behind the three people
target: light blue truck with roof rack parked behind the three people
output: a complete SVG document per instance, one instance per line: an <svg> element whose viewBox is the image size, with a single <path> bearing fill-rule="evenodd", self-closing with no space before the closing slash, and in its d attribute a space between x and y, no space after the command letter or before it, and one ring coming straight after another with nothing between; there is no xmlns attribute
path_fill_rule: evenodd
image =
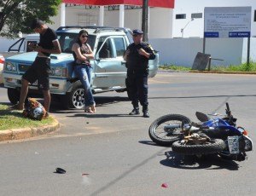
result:
<svg viewBox="0 0 256 196"><path fill-rule="evenodd" d="M50 55L51 73L49 91L53 99L61 101L63 107L84 107L84 89L73 72L71 47L79 31L89 32L88 43L95 54L90 63L93 67L91 87L94 94L106 91L124 92L126 67L123 54L132 43L131 30L105 26L61 26L56 30L61 44L61 54ZM38 42L35 38L29 42ZM25 51L27 46L25 40ZM25 52L6 58L3 66L3 84L8 89L9 101L17 103L20 97L21 76L37 56L37 52ZM159 66L159 54L149 61L149 78L156 75ZM37 82L30 84L28 96L38 95ZM42 93L41 93L42 94Z"/></svg>

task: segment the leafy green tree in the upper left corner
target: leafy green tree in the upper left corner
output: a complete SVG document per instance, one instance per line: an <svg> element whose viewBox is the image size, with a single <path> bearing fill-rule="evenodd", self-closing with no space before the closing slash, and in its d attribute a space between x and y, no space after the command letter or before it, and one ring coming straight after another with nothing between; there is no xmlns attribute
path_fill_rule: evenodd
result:
<svg viewBox="0 0 256 196"><path fill-rule="evenodd" d="M19 32L31 33L32 19L52 23L49 18L58 13L61 0L1 0L0 36L17 37Z"/></svg>

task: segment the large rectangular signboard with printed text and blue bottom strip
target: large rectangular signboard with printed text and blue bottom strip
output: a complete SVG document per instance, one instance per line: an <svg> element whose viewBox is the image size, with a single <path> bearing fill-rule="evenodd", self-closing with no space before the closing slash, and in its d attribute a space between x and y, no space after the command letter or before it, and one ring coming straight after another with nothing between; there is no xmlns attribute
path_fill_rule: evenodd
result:
<svg viewBox="0 0 256 196"><path fill-rule="evenodd" d="M205 8L204 37L251 37L252 7Z"/></svg>

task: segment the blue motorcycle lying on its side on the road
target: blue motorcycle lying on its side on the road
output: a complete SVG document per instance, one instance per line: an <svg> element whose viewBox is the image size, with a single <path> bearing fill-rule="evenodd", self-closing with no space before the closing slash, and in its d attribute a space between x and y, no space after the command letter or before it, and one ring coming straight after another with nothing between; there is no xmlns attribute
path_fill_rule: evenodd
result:
<svg viewBox="0 0 256 196"><path fill-rule="evenodd" d="M180 114L168 114L157 118L150 125L148 134L160 146L172 146L172 152L201 156L218 153L224 159L242 161L246 152L253 150L253 141L247 130L236 126L236 118L226 103L226 115L195 112L199 123L191 122Z"/></svg>

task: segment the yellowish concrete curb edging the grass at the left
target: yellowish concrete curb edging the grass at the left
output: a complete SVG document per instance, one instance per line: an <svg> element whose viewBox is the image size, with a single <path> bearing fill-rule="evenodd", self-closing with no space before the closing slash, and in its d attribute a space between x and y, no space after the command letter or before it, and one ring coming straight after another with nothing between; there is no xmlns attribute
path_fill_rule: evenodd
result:
<svg viewBox="0 0 256 196"><path fill-rule="evenodd" d="M38 135L44 135L49 132L55 131L58 128L60 128L60 123L56 119L54 119L54 122L52 124L44 125L42 127L1 130L0 141L20 140Z"/></svg>

